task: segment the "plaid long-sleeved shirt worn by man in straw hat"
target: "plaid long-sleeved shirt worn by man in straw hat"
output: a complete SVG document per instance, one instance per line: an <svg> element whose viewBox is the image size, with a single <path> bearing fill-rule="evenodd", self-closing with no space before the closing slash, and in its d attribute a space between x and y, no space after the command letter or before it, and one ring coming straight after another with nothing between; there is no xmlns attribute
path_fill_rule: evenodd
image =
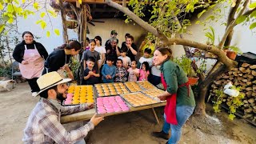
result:
<svg viewBox="0 0 256 144"><path fill-rule="evenodd" d="M87 110L87 104L61 106L60 109L46 98L41 98L32 110L22 141L25 143L74 143L85 138L94 124L88 122L77 130L66 131L60 123L60 116Z"/></svg>

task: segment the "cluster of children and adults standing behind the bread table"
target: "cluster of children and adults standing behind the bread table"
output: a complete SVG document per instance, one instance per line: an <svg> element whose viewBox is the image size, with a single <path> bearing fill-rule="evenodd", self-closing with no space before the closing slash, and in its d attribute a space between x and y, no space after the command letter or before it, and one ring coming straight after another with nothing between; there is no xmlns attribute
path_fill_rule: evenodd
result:
<svg viewBox="0 0 256 144"><path fill-rule="evenodd" d="M160 67L154 66L152 58L155 47L142 48L144 54L137 62L135 56L138 54L138 49L134 44L134 37L126 34L126 42L122 42L120 48L116 36L117 32L112 30L111 38L106 41L105 47L102 46L100 36L87 42L88 46L81 57L84 66L82 85L150 80L154 86L157 86L161 78Z"/></svg>

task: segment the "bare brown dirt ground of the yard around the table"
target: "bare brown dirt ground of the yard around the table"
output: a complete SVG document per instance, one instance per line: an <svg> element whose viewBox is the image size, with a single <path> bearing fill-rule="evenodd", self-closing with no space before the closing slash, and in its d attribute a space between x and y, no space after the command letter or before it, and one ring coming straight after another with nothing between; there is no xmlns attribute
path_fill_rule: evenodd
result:
<svg viewBox="0 0 256 144"><path fill-rule="evenodd" d="M0 143L22 143L23 129L30 111L39 98L32 98L27 83L18 84L14 90L0 92ZM210 109L210 106L208 106ZM163 108L156 108L160 124L154 120L152 110L119 114L105 118L86 138L86 143L94 144L160 144L161 138L153 138L150 133L162 128ZM227 119L226 113L214 114L207 111L207 117L193 116L182 128L184 143L256 143L256 127L242 119ZM80 122L81 123L81 122ZM66 126L75 126L72 122ZM70 127L69 127L70 129Z"/></svg>

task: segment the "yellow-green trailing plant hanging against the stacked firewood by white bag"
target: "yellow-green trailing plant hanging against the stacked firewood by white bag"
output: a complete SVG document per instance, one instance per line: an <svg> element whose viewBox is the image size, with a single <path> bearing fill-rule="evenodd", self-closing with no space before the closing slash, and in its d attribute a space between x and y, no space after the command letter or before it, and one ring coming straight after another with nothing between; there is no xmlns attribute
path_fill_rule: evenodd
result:
<svg viewBox="0 0 256 144"><path fill-rule="evenodd" d="M232 90L238 90L240 91L240 87L236 87L236 86L232 86L231 87ZM214 112L218 113L220 112L220 108L221 108L221 104L222 104L222 100L225 96L225 94L223 93L223 90L214 90L214 95L217 96L217 100L213 101L214 103ZM236 110L238 109L238 107L243 105L242 99L245 97L244 94L239 93L239 95L237 97L231 97L230 96L230 101L226 102L227 106L229 106L229 119L233 120L235 118L234 113L236 112Z"/></svg>

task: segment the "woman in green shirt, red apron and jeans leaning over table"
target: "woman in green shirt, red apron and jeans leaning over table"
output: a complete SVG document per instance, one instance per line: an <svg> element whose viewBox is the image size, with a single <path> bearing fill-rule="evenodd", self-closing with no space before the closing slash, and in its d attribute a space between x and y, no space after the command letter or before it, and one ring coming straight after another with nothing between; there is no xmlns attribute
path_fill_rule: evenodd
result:
<svg viewBox="0 0 256 144"><path fill-rule="evenodd" d="M169 139L166 143L178 143L182 135L182 126L193 114L194 94L188 83L184 70L172 60L172 51L159 48L154 51L154 65L161 66L161 79L165 92L158 95L166 100L164 110L165 122L162 131L153 132L154 137ZM169 138L169 131L171 137Z"/></svg>

